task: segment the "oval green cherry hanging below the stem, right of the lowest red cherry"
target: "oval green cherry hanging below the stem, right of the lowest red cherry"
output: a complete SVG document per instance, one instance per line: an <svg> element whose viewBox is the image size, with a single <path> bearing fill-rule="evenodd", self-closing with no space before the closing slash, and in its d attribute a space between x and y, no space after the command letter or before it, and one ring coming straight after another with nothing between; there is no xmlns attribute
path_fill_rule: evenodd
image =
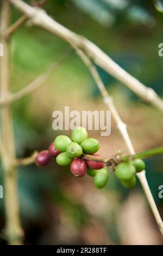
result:
<svg viewBox="0 0 163 256"><path fill-rule="evenodd" d="M94 184L96 188L103 188L108 182L108 171L105 168L98 170L94 178Z"/></svg>

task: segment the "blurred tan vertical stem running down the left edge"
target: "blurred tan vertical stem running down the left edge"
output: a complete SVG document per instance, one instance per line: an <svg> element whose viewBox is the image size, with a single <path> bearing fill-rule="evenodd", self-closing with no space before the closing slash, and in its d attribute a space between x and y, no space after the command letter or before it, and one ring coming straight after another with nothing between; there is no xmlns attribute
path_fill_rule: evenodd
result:
<svg viewBox="0 0 163 256"><path fill-rule="evenodd" d="M1 58L0 85L1 97L7 99L9 94L9 52L8 43L3 31L9 25L10 8L9 2L2 0L1 7L1 43L3 44L4 56ZM4 205L5 205L5 235L10 245L21 245L23 230L20 221L20 209L17 194L17 166L15 163L15 143L12 130L12 114L9 106L2 109L2 169L4 178Z"/></svg>

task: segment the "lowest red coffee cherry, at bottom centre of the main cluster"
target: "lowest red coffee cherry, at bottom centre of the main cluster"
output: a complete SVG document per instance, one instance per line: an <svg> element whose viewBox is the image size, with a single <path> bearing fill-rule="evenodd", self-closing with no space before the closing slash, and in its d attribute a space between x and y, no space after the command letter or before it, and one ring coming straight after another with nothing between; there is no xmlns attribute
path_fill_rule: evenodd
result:
<svg viewBox="0 0 163 256"><path fill-rule="evenodd" d="M74 176L83 177L86 174L85 160L76 158L71 163L71 172Z"/></svg>

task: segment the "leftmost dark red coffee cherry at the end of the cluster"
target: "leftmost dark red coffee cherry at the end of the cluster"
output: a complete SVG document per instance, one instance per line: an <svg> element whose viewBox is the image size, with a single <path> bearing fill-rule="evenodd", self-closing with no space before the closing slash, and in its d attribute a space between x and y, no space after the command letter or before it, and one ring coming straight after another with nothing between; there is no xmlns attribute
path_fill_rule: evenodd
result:
<svg viewBox="0 0 163 256"><path fill-rule="evenodd" d="M48 150L40 151L36 158L35 163L37 166L44 167L52 162L52 156L49 154Z"/></svg>

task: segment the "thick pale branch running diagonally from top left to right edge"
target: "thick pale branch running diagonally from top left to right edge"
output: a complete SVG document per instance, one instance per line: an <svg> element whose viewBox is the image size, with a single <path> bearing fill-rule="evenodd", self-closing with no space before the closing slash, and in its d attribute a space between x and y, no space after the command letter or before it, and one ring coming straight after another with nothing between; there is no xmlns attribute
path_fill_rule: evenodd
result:
<svg viewBox="0 0 163 256"><path fill-rule="evenodd" d="M21 0L8 0L20 9L24 14L28 15L31 23L42 27L52 34L57 35L69 44L73 43L79 49L86 52L87 56L93 59L99 67L103 68L107 73L114 76L117 80L126 85L131 91L136 93L140 98L155 106L161 114L163 114L163 101L152 88L143 85L139 80L131 76L124 69L118 66L106 53L93 44L90 40L70 31L66 27L60 25L53 20L46 12L39 8L34 8Z"/></svg>

